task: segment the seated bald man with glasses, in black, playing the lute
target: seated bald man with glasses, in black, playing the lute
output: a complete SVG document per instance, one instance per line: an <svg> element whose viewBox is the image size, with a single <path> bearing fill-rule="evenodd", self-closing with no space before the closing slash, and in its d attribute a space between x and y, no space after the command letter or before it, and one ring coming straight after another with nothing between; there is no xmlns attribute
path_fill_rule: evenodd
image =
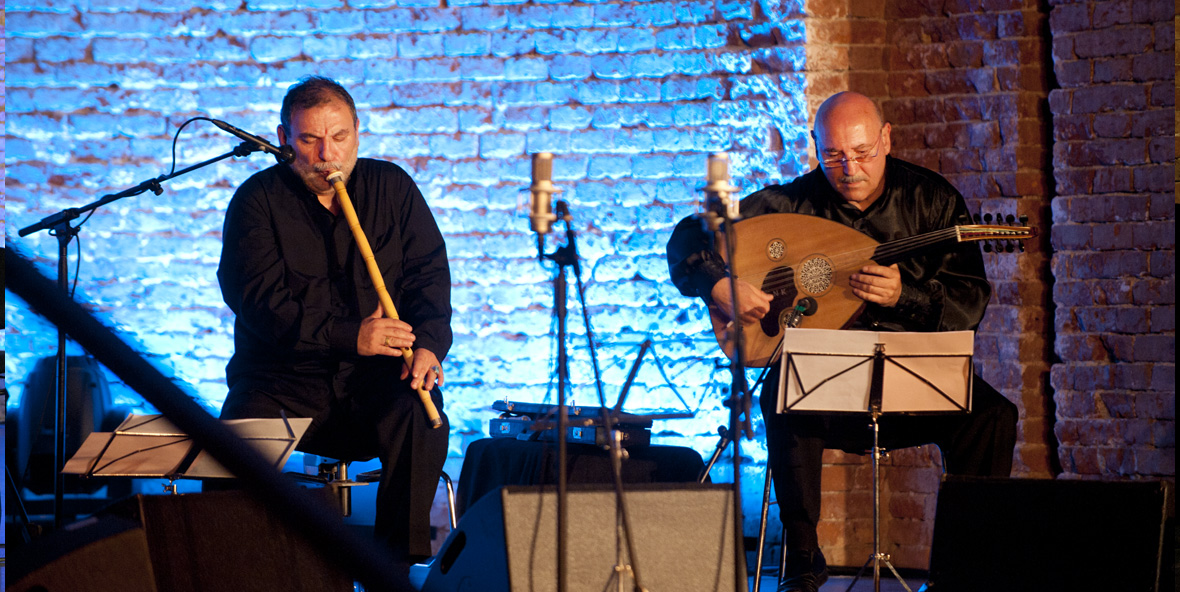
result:
<svg viewBox="0 0 1180 592"><path fill-rule="evenodd" d="M971 223L963 197L943 177L889 156L890 124L867 97L843 92L828 98L815 114L812 138L820 166L746 197L740 204L742 218L775 212L818 216L878 242ZM701 297L726 314L733 310L727 265L699 219L689 217L676 226L668 264L682 294ZM975 243L889 267L865 265L851 276L848 288L867 303L851 328L889 331L974 330L991 294ZM743 322L765 316L771 302L769 294L738 281ZM778 373L772 371L761 408L786 539L787 567L779 591L813 592L827 580L815 532L822 450L868 450L872 436L864 416L778 414L776 393ZM1016 406L975 376L970 414L884 416L881 446L933 442L949 473L1008 476L1016 420Z"/></svg>

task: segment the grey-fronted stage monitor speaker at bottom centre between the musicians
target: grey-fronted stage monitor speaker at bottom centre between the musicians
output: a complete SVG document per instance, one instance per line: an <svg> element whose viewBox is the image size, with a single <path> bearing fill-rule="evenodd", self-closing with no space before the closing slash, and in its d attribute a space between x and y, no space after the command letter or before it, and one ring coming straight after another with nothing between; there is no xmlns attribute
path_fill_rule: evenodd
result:
<svg viewBox="0 0 1180 592"><path fill-rule="evenodd" d="M614 590L620 557L615 492L571 486L566 539L569 592ZM627 512L648 590L734 592L733 491L719 485L629 485ZM557 590L557 493L509 486L480 498L435 555L422 592ZM746 590L745 557L736 558ZM629 575L624 575L630 580Z"/></svg>

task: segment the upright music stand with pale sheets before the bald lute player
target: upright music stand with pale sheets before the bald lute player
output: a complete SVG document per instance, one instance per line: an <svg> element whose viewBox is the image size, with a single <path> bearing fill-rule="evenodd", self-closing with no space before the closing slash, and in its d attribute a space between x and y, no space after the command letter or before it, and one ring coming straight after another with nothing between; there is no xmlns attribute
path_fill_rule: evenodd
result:
<svg viewBox="0 0 1180 592"><path fill-rule="evenodd" d="M876 333L787 329L779 367L779 413L867 413L873 434L873 552L848 585L873 566L880 592L880 566L912 592L880 550L880 426L884 414L971 412L971 356L975 334ZM887 396L886 396L887 394Z"/></svg>

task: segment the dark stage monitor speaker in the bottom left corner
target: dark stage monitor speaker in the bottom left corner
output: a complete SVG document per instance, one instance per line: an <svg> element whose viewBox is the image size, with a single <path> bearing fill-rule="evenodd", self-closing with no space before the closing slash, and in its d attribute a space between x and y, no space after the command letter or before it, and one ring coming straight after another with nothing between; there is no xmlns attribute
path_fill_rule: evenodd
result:
<svg viewBox="0 0 1180 592"><path fill-rule="evenodd" d="M91 518L15 547L9 592L156 592L143 527Z"/></svg>

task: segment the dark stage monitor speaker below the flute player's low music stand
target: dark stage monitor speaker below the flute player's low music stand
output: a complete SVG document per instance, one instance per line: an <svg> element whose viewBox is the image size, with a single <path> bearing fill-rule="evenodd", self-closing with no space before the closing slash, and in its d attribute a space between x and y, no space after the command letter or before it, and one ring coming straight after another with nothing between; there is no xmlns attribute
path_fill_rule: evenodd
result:
<svg viewBox="0 0 1180 592"><path fill-rule="evenodd" d="M111 513L143 525L160 591L353 590L343 570L242 491L136 495Z"/></svg>

